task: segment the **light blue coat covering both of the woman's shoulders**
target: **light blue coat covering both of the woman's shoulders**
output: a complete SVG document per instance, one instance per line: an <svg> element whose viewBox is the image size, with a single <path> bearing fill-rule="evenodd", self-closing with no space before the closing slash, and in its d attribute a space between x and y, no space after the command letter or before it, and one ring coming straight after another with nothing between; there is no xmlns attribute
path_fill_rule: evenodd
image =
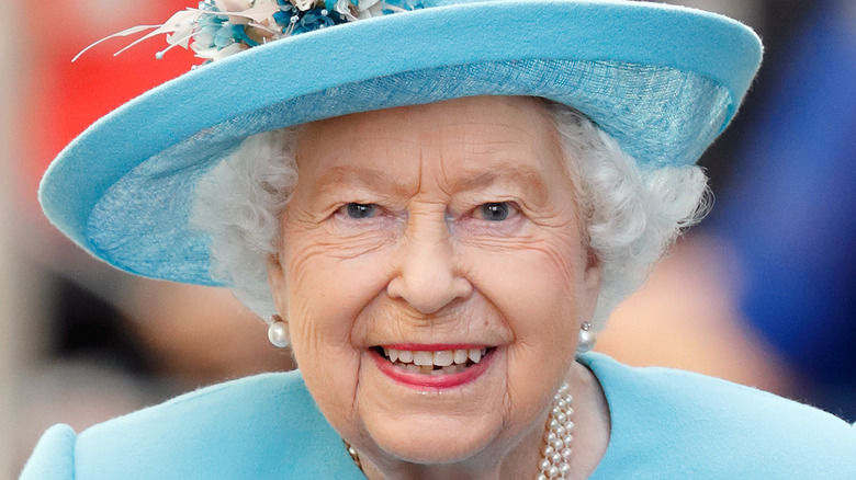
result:
<svg viewBox="0 0 856 480"><path fill-rule="evenodd" d="M612 432L593 479L856 479L856 428L752 388L599 354ZM22 480L360 479L299 372L188 393L76 435L48 430Z"/></svg>

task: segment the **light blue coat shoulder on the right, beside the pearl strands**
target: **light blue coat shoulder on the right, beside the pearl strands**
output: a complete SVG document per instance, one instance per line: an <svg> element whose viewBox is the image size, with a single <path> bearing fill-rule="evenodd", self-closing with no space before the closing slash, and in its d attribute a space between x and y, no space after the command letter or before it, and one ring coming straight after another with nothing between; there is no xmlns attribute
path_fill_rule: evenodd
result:
<svg viewBox="0 0 856 480"><path fill-rule="evenodd" d="M612 420L598 475L610 468L685 478L856 472L856 427L835 415L688 372L629 367L598 354L582 362L600 381Z"/></svg>

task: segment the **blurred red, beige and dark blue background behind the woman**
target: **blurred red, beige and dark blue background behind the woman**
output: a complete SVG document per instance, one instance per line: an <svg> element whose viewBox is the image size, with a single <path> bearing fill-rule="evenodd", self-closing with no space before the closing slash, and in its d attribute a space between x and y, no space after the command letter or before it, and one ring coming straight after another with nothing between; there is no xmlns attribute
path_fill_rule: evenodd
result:
<svg viewBox="0 0 856 480"><path fill-rule="evenodd" d="M38 179L76 135L198 61L150 39L189 0L3 2L0 28L0 479L41 433L77 431L202 385L292 368L228 293L133 277L42 215ZM686 368L856 421L856 2L673 2L753 26L767 48L742 112L705 155L717 202L597 350ZM129 132L128 135L133 135Z"/></svg>

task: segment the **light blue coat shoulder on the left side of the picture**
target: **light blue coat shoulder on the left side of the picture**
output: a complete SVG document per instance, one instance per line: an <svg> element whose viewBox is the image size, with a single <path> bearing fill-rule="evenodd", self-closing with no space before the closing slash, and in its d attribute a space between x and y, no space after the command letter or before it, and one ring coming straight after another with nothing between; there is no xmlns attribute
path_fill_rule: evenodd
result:
<svg viewBox="0 0 856 480"><path fill-rule="evenodd" d="M202 388L79 435L56 425L21 478L350 478L353 470L293 372Z"/></svg>

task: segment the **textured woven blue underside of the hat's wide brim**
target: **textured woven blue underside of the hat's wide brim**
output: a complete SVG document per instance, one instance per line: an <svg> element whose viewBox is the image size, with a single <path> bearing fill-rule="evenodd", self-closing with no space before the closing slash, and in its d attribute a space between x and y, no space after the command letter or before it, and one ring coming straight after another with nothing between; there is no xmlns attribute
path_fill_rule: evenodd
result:
<svg viewBox="0 0 856 480"><path fill-rule="evenodd" d="M246 137L348 113L483 94L571 105L647 168L695 162L724 127L733 103L727 89L706 77L608 61L484 62L374 78L250 112L149 158L100 199L87 236L99 256L129 272L217 285L209 273L209 238L192 230L189 218L200 176Z"/></svg>

